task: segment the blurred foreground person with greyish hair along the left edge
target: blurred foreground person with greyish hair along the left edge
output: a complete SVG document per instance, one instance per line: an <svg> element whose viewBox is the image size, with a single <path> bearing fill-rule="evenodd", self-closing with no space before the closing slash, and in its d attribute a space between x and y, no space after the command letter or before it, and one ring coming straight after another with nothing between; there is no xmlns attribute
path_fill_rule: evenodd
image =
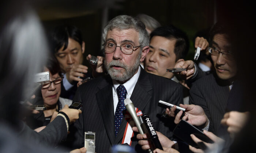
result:
<svg viewBox="0 0 256 153"><path fill-rule="evenodd" d="M16 1L8 4L1 2L0 5L4 14L0 24L0 152L57 152L43 146L45 137L49 135L54 143L61 140L51 128L57 124L47 126L47 131L40 134L19 119L23 118L21 112L24 112L20 101L31 96L26 92L32 89L28 82L33 81L34 74L41 71L48 55L44 30L31 8L23 7ZM84 153L86 149L74 151Z"/></svg>

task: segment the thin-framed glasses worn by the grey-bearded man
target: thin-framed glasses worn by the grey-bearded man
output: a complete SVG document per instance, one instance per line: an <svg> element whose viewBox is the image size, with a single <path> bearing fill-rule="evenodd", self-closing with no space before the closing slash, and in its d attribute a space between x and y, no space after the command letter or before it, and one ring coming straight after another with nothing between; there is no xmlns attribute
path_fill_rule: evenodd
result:
<svg viewBox="0 0 256 153"><path fill-rule="evenodd" d="M127 55L132 54L133 51L136 51L140 47L133 47L131 44L121 44L120 46L116 46L116 44L113 43L104 43L102 46L104 46L104 50L106 53L112 53L116 50L116 47L120 47L121 51Z"/></svg>

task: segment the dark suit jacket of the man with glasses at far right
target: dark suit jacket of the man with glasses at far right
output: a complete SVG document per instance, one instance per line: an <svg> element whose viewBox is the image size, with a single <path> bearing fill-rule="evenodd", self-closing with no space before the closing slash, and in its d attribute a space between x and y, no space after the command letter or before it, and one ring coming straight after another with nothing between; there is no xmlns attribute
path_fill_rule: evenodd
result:
<svg viewBox="0 0 256 153"><path fill-rule="evenodd" d="M229 84L215 73L209 74L192 83L189 93L189 103L204 109L210 121L209 131L217 134L229 98Z"/></svg>

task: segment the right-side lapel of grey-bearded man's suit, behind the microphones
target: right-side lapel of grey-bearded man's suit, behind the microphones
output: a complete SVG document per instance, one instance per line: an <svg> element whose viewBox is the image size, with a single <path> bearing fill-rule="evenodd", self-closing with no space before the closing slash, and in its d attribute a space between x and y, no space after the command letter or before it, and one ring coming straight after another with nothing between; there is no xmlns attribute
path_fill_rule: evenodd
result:
<svg viewBox="0 0 256 153"><path fill-rule="evenodd" d="M152 86L146 73L147 72L145 72L142 68L140 69L140 76L132 91L131 96L131 101L133 105L137 107L139 110L144 109L144 107L150 101L152 95ZM126 124L127 121L123 118L118 130L115 144L120 143L120 141L123 139Z"/></svg>

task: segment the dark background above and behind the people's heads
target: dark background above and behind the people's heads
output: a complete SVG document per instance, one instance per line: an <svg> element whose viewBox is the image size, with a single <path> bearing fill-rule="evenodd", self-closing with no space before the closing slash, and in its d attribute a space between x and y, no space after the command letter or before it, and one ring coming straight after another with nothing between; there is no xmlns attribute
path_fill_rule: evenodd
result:
<svg viewBox="0 0 256 153"><path fill-rule="evenodd" d="M37 0L33 3L47 33L60 24L74 25L82 31L86 44L84 59L88 54L98 54L102 29L117 15L144 13L162 26L173 24L180 28L190 41L186 59L193 59L193 39L198 31L209 29L217 21L234 22L234 27L246 21L243 28L251 18L251 22L255 21L252 3L231 0ZM83 64L89 66L86 60Z"/></svg>

